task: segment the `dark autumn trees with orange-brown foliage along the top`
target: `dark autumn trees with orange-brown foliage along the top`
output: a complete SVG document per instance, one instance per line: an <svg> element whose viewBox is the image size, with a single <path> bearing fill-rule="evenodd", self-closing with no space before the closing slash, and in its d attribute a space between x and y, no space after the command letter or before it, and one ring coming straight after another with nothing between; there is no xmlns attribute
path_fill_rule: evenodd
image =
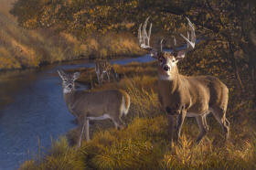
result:
<svg viewBox="0 0 256 170"><path fill-rule="evenodd" d="M51 27L80 38L91 32L126 30L136 34L147 16L151 16L155 32L175 34L188 16L197 26L203 46L212 46L211 54L230 61L240 88L244 89L243 69L256 87L253 0L18 0L11 13L22 27Z"/></svg>

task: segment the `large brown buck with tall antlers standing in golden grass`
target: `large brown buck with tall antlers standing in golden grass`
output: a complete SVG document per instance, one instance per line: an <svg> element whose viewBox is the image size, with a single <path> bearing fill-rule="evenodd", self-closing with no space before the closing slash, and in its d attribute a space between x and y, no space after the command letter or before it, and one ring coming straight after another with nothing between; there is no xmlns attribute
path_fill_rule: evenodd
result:
<svg viewBox="0 0 256 170"><path fill-rule="evenodd" d="M158 95L162 109L168 115L169 134L173 141L173 124L176 117L176 138L180 137L182 124L185 117L196 117L200 133L197 143L208 133L208 123L206 117L212 112L216 120L220 123L225 132L226 139L229 138L229 121L226 119L226 111L229 100L229 90L227 86L218 78L212 76L183 76L179 74L177 62L185 58L186 53L195 48L196 34L195 27L187 18L189 32L187 37L187 48L177 50L176 38L174 37L174 47L172 52L157 50L149 44L151 27L146 32L147 22L145 20L143 30L142 24L139 27L138 37L141 48L148 50L151 56L158 61Z"/></svg>

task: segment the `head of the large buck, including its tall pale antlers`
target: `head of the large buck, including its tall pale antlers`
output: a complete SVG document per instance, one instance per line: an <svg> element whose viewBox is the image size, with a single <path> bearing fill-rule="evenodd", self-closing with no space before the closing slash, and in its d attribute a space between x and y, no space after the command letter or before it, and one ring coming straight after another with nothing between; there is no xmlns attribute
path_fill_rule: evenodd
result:
<svg viewBox="0 0 256 170"><path fill-rule="evenodd" d="M147 22L149 17L146 18L142 29L142 24L138 30L138 38L139 38L139 45L140 48L144 48L145 50L150 52L151 57L158 60L158 74L161 80L173 80L175 76L178 74L178 69L176 67L176 63L183 58L185 58L187 52L190 49L195 48L196 45L196 33L195 27L187 18L189 31L187 31L187 37L180 34L187 42L187 48L177 50L176 48L176 37L174 38L172 52L165 52L162 48L163 39L160 41L160 49L152 48L150 46L150 36L151 36L151 29L152 24L150 24L149 31L146 32Z"/></svg>

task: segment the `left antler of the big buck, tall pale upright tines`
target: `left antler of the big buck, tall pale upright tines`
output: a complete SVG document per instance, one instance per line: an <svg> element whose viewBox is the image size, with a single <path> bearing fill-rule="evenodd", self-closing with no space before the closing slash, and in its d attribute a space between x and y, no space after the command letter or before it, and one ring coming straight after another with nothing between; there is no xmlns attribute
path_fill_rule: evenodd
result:
<svg viewBox="0 0 256 170"><path fill-rule="evenodd" d="M151 36L151 29L152 29L152 23L150 24L148 32L146 32L146 27L147 27L147 22L150 16L148 16L145 21L144 21L144 26L143 24L140 25L139 30L138 30L138 38L139 38L139 43L140 43L140 48L144 48L146 50L151 50L152 48L150 47L150 36ZM143 26L143 32L142 32L142 26Z"/></svg>

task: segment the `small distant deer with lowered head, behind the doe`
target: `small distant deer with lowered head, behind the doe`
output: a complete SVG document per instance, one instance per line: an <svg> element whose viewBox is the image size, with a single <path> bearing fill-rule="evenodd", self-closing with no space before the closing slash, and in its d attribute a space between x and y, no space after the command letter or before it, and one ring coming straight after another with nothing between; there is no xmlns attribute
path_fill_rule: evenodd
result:
<svg viewBox="0 0 256 170"><path fill-rule="evenodd" d="M106 60L99 60L95 62L95 72L99 84L102 85L104 75L106 74L109 82L111 81L111 76L114 80L118 80L118 75L112 67L112 64Z"/></svg>

